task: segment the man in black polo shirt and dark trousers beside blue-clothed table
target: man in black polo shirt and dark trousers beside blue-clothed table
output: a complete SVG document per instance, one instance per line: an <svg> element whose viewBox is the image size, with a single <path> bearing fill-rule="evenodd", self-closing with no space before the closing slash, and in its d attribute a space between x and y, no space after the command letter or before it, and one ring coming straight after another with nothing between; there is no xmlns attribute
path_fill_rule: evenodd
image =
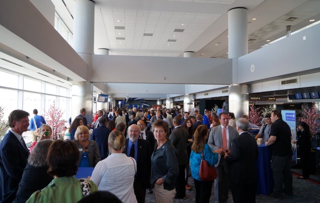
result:
<svg viewBox="0 0 320 203"><path fill-rule="evenodd" d="M290 170L291 130L289 125L282 120L281 112L272 110L271 129L269 140L265 145L269 146L271 152L271 170L274 181L273 193L271 196L282 199L282 180L284 184L283 192L293 195L292 174Z"/></svg>

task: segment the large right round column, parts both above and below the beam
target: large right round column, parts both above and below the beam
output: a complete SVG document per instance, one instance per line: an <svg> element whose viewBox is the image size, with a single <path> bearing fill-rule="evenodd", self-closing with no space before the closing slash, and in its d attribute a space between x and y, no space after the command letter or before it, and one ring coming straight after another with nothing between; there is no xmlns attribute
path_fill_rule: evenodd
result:
<svg viewBox="0 0 320 203"><path fill-rule="evenodd" d="M228 11L228 57L238 58L248 53L247 44L247 9L232 8ZM237 83L237 76L233 75L233 83ZM228 110L236 118L248 113L249 97L246 84L229 85Z"/></svg>

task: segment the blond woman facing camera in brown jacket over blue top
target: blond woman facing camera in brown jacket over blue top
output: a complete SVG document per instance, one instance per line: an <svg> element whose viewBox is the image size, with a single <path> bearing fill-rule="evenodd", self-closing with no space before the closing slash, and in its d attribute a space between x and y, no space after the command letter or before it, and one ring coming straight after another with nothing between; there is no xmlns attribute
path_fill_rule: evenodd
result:
<svg viewBox="0 0 320 203"><path fill-rule="evenodd" d="M85 125L80 125L74 133L74 143L79 149L80 158L77 161L78 167L94 167L101 160L100 151L94 140L89 140L89 129Z"/></svg>

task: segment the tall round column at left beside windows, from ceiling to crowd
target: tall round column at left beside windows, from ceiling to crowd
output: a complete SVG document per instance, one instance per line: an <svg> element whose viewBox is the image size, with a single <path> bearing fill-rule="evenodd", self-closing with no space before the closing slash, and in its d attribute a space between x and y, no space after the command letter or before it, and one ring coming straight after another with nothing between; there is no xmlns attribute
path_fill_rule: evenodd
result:
<svg viewBox="0 0 320 203"><path fill-rule="evenodd" d="M73 48L88 64L87 81L72 82L72 120L85 108L87 122L92 120L93 84L91 79L91 57L94 41L94 2L90 0L74 1Z"/></svg>

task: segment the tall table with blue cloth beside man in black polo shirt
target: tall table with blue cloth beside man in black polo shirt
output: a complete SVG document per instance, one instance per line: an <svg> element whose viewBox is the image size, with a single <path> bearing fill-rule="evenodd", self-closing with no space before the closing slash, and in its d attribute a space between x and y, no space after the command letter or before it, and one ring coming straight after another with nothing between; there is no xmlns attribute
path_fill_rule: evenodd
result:
<svg viewBox="0 0 320 203"><path fill-rule="evenodd" d="M258 159L255 162L256 167L256 194L269 194L273 189L273 178L270 167L271 153L264 144L258 145Z"/></svg>

